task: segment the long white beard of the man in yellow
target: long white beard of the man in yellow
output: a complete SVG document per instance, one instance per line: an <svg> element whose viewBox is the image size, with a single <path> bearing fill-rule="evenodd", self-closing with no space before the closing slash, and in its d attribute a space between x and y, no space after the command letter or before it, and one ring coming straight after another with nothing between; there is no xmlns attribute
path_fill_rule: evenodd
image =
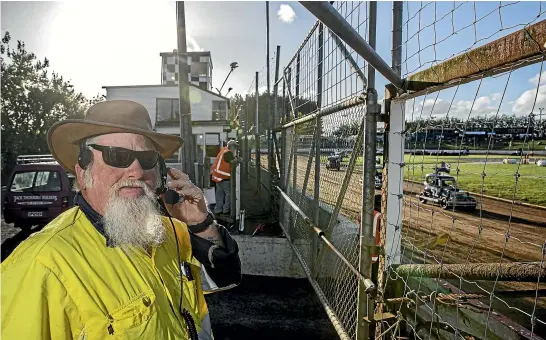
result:
<svg viewBox="0 0 546 340"><path fill-rule="evenodd" d="M119 189L123 186L141 187L144 195L121 197ZM112 187L103 221L113 246L133 245L146 250L165 241L165 226L155 194L143 181L127 180Z"/></svg>

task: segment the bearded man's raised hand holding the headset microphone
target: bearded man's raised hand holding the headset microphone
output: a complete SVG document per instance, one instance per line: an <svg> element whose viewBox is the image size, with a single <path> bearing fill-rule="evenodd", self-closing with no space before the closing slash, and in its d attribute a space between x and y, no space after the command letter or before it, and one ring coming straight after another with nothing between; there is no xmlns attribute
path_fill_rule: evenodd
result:
<svg viewBox="0 0 546 340"><path fill-rule="evenodd" d="M165 207L171 216L186 223L198 224L207 218L208 210L203 191L195 186L188 175L178 169L169 169L169 175L173 181L167 183L167 187L184 196L184 202L167 204ZM165 202L164 195L161 195Z"/></svg>

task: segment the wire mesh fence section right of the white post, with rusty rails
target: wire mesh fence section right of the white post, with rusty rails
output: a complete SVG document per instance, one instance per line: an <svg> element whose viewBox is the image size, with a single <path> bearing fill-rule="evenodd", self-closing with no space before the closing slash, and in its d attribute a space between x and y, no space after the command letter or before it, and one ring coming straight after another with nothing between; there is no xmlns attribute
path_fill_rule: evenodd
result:
<svg viewBox="0 0 546 340"><path fill-rule="evenodd" d="M404 168L403 195L389 183L403 204L395 238L402 263L417 264L391 267L383 288L396 282L395 295L409 298L392 306L404 314L396 335L544 337L543 4L405 2L404 11L402 74L430 84L393 103L406 151L389 164ZM509 34L520 45L492 55ZM440 72L447 64L456 76Z"/></svg>

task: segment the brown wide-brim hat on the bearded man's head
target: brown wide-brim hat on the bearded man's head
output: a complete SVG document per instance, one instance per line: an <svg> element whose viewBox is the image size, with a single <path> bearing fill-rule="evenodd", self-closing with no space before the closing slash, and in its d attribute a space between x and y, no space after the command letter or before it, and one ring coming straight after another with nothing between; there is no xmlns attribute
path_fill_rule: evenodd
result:
<svg viewBox="0 0 546 340"><path fill-rule="evenodd" d="M76 174L80 144L87 138L110 133L134 133L146 136L166 159L184 143L178 136L154 132L148 110L130 100L108 100L91 106L84 119L66 119L48 131L47 144L53 157L67 171Z"/></svg>

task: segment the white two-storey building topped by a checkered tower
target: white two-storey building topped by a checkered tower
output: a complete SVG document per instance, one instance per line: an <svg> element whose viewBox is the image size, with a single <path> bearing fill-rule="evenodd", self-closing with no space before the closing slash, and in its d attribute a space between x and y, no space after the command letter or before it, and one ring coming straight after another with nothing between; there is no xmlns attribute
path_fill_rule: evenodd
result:
<svg viewBox="0 0 546 340"><path fill-rule="evenodd" d="M144 105L150 114L153 128L157 132L180 135L178 64L174 61L176 52L160 53L161 84L103 86L106 100L126 99ZM216 157L222 142L228 139L229 99L210 90L212 88L212 61L210 52L189 52L192 67L188 77L197 79L189 84L192 132L196 147L197 161L204 157ZM174 64L173 64L174 63ZM175 68L170 65L175 65ZM173 74L174 79L173 78ZM166 160L178 161L178 153Z"/></svg>

